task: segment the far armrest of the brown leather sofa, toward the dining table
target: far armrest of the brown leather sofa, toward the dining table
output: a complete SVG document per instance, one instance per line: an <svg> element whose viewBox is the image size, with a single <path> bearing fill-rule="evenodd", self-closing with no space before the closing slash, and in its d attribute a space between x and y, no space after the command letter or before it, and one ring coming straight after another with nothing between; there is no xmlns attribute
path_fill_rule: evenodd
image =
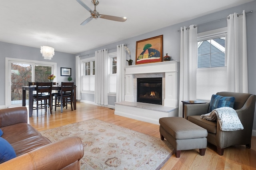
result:
<svg viewBox="0 0 256 170"><path fill-rule="evenodd" d="M17 123L28 123L28 109L26 107L0 109L0 127Z"/></svg>

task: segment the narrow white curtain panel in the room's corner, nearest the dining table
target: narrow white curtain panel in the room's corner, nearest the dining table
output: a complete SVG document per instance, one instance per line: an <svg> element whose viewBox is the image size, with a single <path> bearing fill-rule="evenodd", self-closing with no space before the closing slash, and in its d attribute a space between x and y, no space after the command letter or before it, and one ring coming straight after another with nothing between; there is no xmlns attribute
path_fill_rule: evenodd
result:
<svg viewBox="0 0 256 170"><path fill-rule="evenodd" d="M76 56L76 100L81 100L81 57Z"/></svg>

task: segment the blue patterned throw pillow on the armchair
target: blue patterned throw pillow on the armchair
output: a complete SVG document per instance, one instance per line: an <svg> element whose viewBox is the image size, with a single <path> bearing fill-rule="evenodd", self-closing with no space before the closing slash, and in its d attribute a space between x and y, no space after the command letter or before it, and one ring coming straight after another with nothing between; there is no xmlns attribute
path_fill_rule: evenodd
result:
<svg viewBox="0 0 256 170"><path fill-rule="evenodd" d="M220 107L234 107L235 98L234 97L224 97L220 95L212 95L212 99L210 101L210 107L208 113L212 110L220 108Z"/></svg>

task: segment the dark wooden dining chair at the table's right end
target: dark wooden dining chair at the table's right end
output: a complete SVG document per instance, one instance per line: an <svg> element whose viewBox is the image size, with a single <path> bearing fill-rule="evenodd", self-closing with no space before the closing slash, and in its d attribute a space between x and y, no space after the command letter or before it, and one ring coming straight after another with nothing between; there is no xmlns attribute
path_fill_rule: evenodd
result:
<svg viewBox="0 0 256 170"><path fill-rule="evenodd" d="M71 111L73 111L73 96L74 96L74 82L68 83L68 82L61 82L61 90L60 93L55 95L55 111L56 107L61 108L61 113L63 112L63 109L66 106L66 109L68 108L68 102L70 102L71 105ZM59 104L60 102L60 104Z"/></svg>

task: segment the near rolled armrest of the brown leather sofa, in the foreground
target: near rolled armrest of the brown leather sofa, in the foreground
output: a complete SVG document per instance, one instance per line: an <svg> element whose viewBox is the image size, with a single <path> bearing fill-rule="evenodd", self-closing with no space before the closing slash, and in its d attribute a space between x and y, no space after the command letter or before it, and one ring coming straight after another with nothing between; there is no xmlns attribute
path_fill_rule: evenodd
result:
<svg viewBox="0 0 256 170"><path fill-rule="evenodd" d="M77 136L65 138L22 154L0 164L3 170L80 170L84 155L82 141Z"/></svg>

